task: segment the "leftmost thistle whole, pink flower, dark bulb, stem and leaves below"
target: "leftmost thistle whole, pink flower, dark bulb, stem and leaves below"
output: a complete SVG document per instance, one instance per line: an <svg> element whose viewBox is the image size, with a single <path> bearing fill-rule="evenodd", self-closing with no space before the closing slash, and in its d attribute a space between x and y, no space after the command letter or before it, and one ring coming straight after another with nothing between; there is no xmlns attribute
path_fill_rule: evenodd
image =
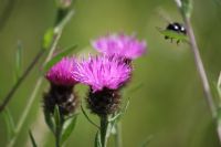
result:
<svg viewBox="0 0 221 147"><path fill-rule="evenodd" d="M50 82L50 91L43 97L44 116L55 136L56 147L62 146L67 139L74 128L70 129L69 126L74 126L76 122L78 101L73 92L74 85L77 83L72 74L74 64L74 59L63 57L45 75Z"/></svg>

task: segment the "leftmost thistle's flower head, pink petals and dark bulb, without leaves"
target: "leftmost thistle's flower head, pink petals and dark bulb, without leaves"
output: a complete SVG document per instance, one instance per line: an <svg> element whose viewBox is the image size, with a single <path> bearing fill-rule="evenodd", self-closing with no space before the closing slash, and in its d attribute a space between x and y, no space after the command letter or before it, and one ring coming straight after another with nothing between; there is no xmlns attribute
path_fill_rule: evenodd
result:
<svg viewBox="0 0 221 147"><path fill-rule="evenodd" d="M50 91L43 97L44 111L53 113L57 105L62 115L75 112L78 101L73 92L73 87L77 83L72 75L74 63L73 59L64 57L46 73Z"/></svg>

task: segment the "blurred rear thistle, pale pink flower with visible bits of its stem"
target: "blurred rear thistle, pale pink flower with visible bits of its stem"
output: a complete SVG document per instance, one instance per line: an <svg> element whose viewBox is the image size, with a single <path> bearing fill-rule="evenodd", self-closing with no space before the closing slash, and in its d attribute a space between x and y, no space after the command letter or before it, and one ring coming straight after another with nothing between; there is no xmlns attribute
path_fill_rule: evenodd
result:
<svg viewBox="0 0 221 147"><path fill-rule="evenodd" d="M103 55L114 55L118 60L124 61L126 64L128 64L131 69L134 69L133 60L144 55L147 48L146 41L138 41L134 34L127 35L125 33L112 33L105 36L101 36L92 41L92 45ZM131 78L133 72L130 72L129 76ZM124 86L129 84L130 78L124 83ZM115 115L118 116L119 114L122 113L118 112ZM116 147L122 147L122 124L119 118L117 118L113 124L113 128L116 129L116 132L114 133Z"/></svg>

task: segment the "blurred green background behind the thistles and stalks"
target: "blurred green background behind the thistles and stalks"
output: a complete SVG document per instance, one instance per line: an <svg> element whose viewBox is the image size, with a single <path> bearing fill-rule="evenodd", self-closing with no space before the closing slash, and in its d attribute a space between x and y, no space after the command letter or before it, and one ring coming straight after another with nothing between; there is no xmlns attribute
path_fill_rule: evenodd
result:
<svg viewBox="0 0 221 147"><path fill-rule="evenodd" d="M192 15L211 85L221 70L221 4L218 3L219 0L194 0ZM135 61L131 85L124 91L124 97L130 97L123 118L124 147L139 147L148 136L152 136L149 147L219 146L189 46L164 40L156 29L167 25L157 14L159 8L171 20L181 20L172 0L77 0L73 8L75 15L64 29L61 48L77 44L77 54L94 52L90 41L108 32L136 32L139 39L148 42L148 53ZM0 99L14 83L17 42L21 41L24 46L25 69L40 50L45 30L53 25L55 12L53 0L0 0ZM41 64L31 72L9 104L15 123L41 75L40 67ZM46 81L44 83L19 134L17 147L31 146L29 128L40 146L54 145L42 114L42 93L48 90ZM139 88L133 91L137 86ZM83 98L84 91L77 90ZM97 122L97 117L92 117ZM1 147L7 144L6 128L0 115ZM93 147L95 133L96 128L81 114L66 146ZM112 146L113 138L109 140Z"/></svg>

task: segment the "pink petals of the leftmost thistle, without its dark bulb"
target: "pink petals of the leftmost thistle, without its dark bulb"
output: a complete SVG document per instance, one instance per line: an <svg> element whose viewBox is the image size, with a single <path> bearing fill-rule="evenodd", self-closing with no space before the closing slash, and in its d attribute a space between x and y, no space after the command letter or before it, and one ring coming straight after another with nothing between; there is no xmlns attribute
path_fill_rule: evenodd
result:
<svg viewBox="0 0 221 147"><path fill-rule="evenodd" d="M63 57L49 70L45 77L55 85L72 86L76 83L72 74L74 71L74 59Z"/></svg>

